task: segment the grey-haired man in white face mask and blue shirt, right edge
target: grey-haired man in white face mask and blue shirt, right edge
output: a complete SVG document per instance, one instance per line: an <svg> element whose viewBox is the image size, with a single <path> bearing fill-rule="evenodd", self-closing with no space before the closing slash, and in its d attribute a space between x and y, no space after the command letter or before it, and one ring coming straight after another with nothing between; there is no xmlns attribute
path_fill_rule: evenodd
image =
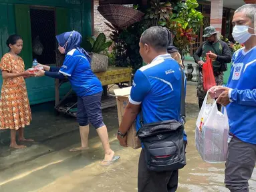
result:
<svg viewBox="0 0 256 192"><path fill-rule="evenodd" d="M246 4L235 11L233 37L245 47L233 55L233 67L227 87L210 89L217 103L227 106L229 149L225 184L230 191L249 191L256 161L256 4Z"/></svg>

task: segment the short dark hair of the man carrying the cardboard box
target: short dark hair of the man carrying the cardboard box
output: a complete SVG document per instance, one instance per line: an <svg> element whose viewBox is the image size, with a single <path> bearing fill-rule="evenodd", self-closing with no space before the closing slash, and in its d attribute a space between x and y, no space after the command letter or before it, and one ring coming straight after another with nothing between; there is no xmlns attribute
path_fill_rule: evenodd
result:
<svg viewBox="0 0 256 192"><path fill-rule="evenodd" d="M167 50L171 38L170 31L167 30L160 26L150 27L142 33L140 42L152 46L156 51Z"/></svg>

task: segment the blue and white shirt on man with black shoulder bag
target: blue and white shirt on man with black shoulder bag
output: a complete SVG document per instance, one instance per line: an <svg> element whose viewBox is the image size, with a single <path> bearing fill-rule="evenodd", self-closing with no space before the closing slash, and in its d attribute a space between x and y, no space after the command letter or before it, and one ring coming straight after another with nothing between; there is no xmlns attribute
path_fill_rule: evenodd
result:
<svg viewBox="0 0 256 192"><path fill-rule="evenodd" d="M141 105L144 123L175 119L181 121L180 67L170 54L159 55L152 63L138 69L134 75L129 101ZM140 114L136 129L140 129Z"/></svg>

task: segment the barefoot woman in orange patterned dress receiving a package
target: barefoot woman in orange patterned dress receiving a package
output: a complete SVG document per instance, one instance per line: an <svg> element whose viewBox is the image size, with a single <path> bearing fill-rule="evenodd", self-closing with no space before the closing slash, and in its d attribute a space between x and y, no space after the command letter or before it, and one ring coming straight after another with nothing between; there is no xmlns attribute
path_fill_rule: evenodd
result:
<svg viewBox="0 0 256 192"><path fill-rule="evenodd" d="M16 131L19 132L19 141L33 141L33 139L24 138L24 127L30 125L31 121L31 110L24 78L31 77L33 74L24 70L23 59L18 56L23 47L21 37L11 35L6 44L10 51L3 55L0 63L3 77L0 129L11 129L10 147L21 149L25 145L17 145Z"/></svg>

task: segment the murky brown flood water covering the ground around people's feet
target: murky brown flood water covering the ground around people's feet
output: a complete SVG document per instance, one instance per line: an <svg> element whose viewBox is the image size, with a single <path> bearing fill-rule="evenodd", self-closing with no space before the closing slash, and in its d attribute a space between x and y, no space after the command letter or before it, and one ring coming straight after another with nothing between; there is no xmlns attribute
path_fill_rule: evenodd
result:
<svg viewBox="0 0 256 192"><path fill-rule="evenodd" d="M186 100L188 116L185 127L188 134L187 165L180 171L178 191L229 191L223 184L225 164L205 163L195 148L195 121L199 113L195 86L188 86ZM104 110L104 120L110 129L110 145L116 151L116 155L120 155L120 160L109 167L99 165L104 155L94 129L91 129L90 149L82 153L70 153L68 151L70 148L80 145L76 120L63 116L55 117L49 111L32 110L35 111L33 115L41 115L40 118L48 120L46 123L42 120L39 121L39 118L37 123L33 122L31 126L36 138L41 138L40 134L50 134L51 131L61 134L41 139L29 145L27 149L17 151L9 150L7 147L9 133L1 133L2 140L0 141L3 141L3 144L0 145L1 192L135 192L138 190L137 174L140 149L124 149L119 146L116 140L118 120L115 107ZM49 123L49 121L54 121L54 123ZM40 122L40 126L37 125L38 122ZM47 126L43 124L47 124ZM31 133L33 132L30 127L28 129L31 130ZM37 131L35 131L36 129ZM33 136L33 134L29 136ZM255 179L256 172L254 171L249 182L251 191L256 191Z"/></svg>

